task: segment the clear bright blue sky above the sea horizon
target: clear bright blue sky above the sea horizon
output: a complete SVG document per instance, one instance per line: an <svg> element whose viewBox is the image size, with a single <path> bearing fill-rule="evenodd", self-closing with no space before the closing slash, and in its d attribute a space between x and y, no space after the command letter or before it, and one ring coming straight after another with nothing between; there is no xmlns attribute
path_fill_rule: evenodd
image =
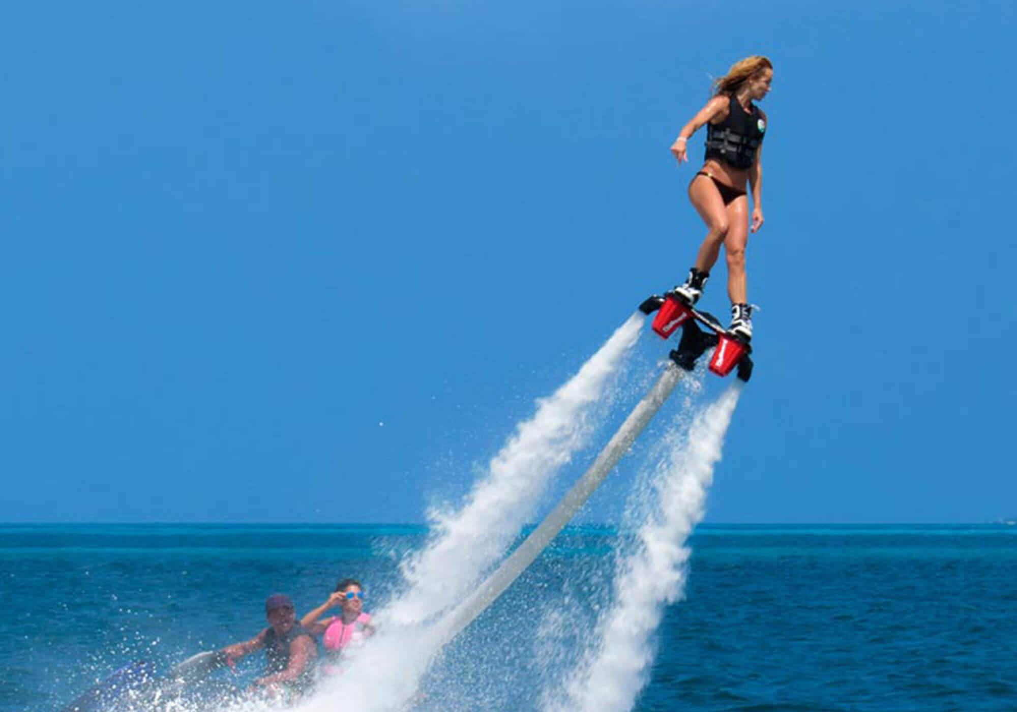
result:
<svg viewBox="0 0 1017 712"><path fill-rule="evenodd" d="M708 521L1017 514L1013 3L720 9L5 2L0 521L421 521L683 277L667 149L755 53Z"/></svg>

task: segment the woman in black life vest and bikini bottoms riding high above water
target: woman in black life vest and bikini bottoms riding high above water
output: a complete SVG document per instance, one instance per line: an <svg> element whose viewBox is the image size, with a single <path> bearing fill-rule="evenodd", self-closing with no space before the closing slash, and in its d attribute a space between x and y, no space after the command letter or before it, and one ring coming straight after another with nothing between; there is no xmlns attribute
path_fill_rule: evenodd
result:
<svg viewBox="0 0 1017 712"><path fill-rule="evenodd" d="M724 246L727 254L727 295L731 299L730 330L753 338L753 320L745 287L745 243L749 241L747 182L753 191L752 232L763 227L763 137L766 114L753 102L770 93L773 64L766 57L746 57L714 82L714 96L681 129L671 145L678 163L689 160L689 139L707 126L706 162L689 184L689 199L707 226L696 265L674 293L687 304L699 301L703 287Z"/></svg>

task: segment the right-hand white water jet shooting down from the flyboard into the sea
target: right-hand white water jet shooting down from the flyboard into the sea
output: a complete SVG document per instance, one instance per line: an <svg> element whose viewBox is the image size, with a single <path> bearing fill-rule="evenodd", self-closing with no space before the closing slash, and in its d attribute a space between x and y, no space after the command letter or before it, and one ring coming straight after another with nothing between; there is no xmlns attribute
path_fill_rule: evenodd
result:
<svg viewBox="0 0 1017 712"><path fill-rule="evenodd" d="M656 512L640 528L637 550L619 559L616 604L598 620L597 645L569 677L564 699L545 694L545 709L626 712L636 704L653 662L653 637L664 606L684 591L691 553L684 542L703 520L740 394L741 383L735 381L693 421L687 439L675 436L653 483Z"/></svg>

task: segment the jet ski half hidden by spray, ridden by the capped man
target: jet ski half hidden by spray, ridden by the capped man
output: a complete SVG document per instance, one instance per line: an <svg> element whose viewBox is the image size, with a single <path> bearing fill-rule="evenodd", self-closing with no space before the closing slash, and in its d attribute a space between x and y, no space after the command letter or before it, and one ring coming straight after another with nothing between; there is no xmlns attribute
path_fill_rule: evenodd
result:
<svg viewBox="0 0 1017 712"><path fill-rule="evenodd" d="M60 712L106 712L117 709L129 698L131 709L144 709L157 700L173 700L184 695L216 670L225 667L226 655L222 651L207 651L192 655L174 665L165 676L156 674L156 665L148 660L138 660L124 665Z"/></svg>

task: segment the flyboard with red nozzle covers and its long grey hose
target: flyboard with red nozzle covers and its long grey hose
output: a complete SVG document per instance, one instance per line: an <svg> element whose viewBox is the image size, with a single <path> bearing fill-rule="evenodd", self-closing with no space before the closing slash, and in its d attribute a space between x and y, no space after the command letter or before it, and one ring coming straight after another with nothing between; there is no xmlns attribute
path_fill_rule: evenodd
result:
<svg viewBox="0 0 1017 712"><path fill-rule="evenodd" d="M435 624L434 635L443 645L459 635L480 615L508 586L540 555L547 544L569 523L590 495L614 469L639 434L664 405L681 376L696 368L696 362L707 349L714 348L710 370L724 377L737 368L737 377L747 381L753 373L749 354L752 347L745 339L728 332L715 316L683 303L675 294L654 295L640 304L640 311L652 314L653 331L662 339L670 338L681 329L678 348L671 351L670 361L643 400L633 409L611 439L600 451L586 473L573 485L561 500L531 532L519 547L501 562L493 574L466 600ZM701 329L700 324L706 329Z"/></svg>

